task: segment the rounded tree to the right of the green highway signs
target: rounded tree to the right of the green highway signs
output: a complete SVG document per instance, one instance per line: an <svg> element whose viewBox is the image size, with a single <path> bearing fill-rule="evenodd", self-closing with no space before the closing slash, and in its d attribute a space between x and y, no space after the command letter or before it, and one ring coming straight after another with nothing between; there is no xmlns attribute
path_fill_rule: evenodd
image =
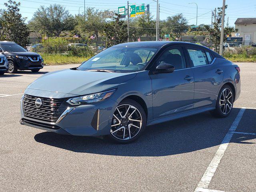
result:
<svg viewBox="0 0 256 192"><path fill-rule="evenodd" d="M182 33L188 30L188 21L182 13L167 17L164 25L165 30L172 32L178 39L180 39Z"/></svg>

